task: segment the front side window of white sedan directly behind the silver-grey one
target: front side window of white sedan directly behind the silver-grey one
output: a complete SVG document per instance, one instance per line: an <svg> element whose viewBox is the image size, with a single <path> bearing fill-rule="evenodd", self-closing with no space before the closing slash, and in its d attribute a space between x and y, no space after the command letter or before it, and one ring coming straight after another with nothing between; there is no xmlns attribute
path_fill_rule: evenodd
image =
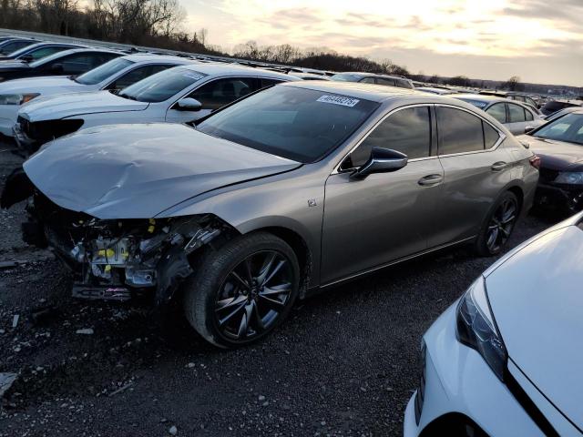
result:
<svg viewBox="0 0 583 437"><path fill-rule="evenodd" d="M200 86L189 97L196 98L202 104L202 109L219 109L240 97L245 97L254 91L252 77L230 77L218 79Z"/></svg>

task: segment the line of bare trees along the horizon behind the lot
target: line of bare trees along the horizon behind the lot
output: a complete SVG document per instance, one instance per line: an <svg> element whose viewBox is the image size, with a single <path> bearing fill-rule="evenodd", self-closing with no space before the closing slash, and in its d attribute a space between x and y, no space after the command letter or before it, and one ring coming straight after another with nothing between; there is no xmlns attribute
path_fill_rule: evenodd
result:
<svg viewBox="0 0 583 437"><path fill-rule="evenodd" d="M231 56L212 46L206 29L184 31L187 16L179 0L0 0L0 27L77 36L136 46L154 46L207 55ZM346 56L327 48L291 45L236 46L232 56L253 61L332 71L367 71L407 76L404 66Z"/></svg>

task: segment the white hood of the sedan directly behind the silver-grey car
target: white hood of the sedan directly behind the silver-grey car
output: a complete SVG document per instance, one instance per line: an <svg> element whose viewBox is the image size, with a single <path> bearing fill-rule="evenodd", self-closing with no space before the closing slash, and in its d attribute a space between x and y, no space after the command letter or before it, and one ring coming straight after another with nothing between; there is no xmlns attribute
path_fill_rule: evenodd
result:
<svg viewBox="0 0 583 437"><path fill-rule="evenodd" d="M109 91L97 91L34 99L22 107L18 115L29 121L43 121L100 112L143 111L147 107L146 102L118 97Z"/></svg>

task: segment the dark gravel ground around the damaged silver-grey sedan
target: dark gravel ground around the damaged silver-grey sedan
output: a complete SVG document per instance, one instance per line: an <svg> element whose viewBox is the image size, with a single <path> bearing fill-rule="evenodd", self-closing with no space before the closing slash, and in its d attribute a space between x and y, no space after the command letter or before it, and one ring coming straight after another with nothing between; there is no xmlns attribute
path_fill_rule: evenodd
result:
<svg viewBox="0 0 583 437"><path fill-rule="evenodd" d="M2 186L21 162L7 147ZM20 240L23 209L0 211L0 262L20 261L0 269L0 372L18 373L6 437L401 435L424 330L495 260L460 248L384 269L301 302L253 347L216 351L179 311L163 322L72 300L52 253ZM528 216L510 247L551 223Z"/></svg>

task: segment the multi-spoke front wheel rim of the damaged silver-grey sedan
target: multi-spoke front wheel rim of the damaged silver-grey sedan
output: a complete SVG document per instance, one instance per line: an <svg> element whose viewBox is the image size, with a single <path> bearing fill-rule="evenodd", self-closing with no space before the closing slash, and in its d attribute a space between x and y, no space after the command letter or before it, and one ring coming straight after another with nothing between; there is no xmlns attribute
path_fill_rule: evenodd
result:
<svg viewBox="0 0 583 437"><path fill-rule="evenodd" d="M274 250L243 259L223 281L215 300L215 321L230 340L245 341L268 330L287 307L292 267Z"/></svg>

